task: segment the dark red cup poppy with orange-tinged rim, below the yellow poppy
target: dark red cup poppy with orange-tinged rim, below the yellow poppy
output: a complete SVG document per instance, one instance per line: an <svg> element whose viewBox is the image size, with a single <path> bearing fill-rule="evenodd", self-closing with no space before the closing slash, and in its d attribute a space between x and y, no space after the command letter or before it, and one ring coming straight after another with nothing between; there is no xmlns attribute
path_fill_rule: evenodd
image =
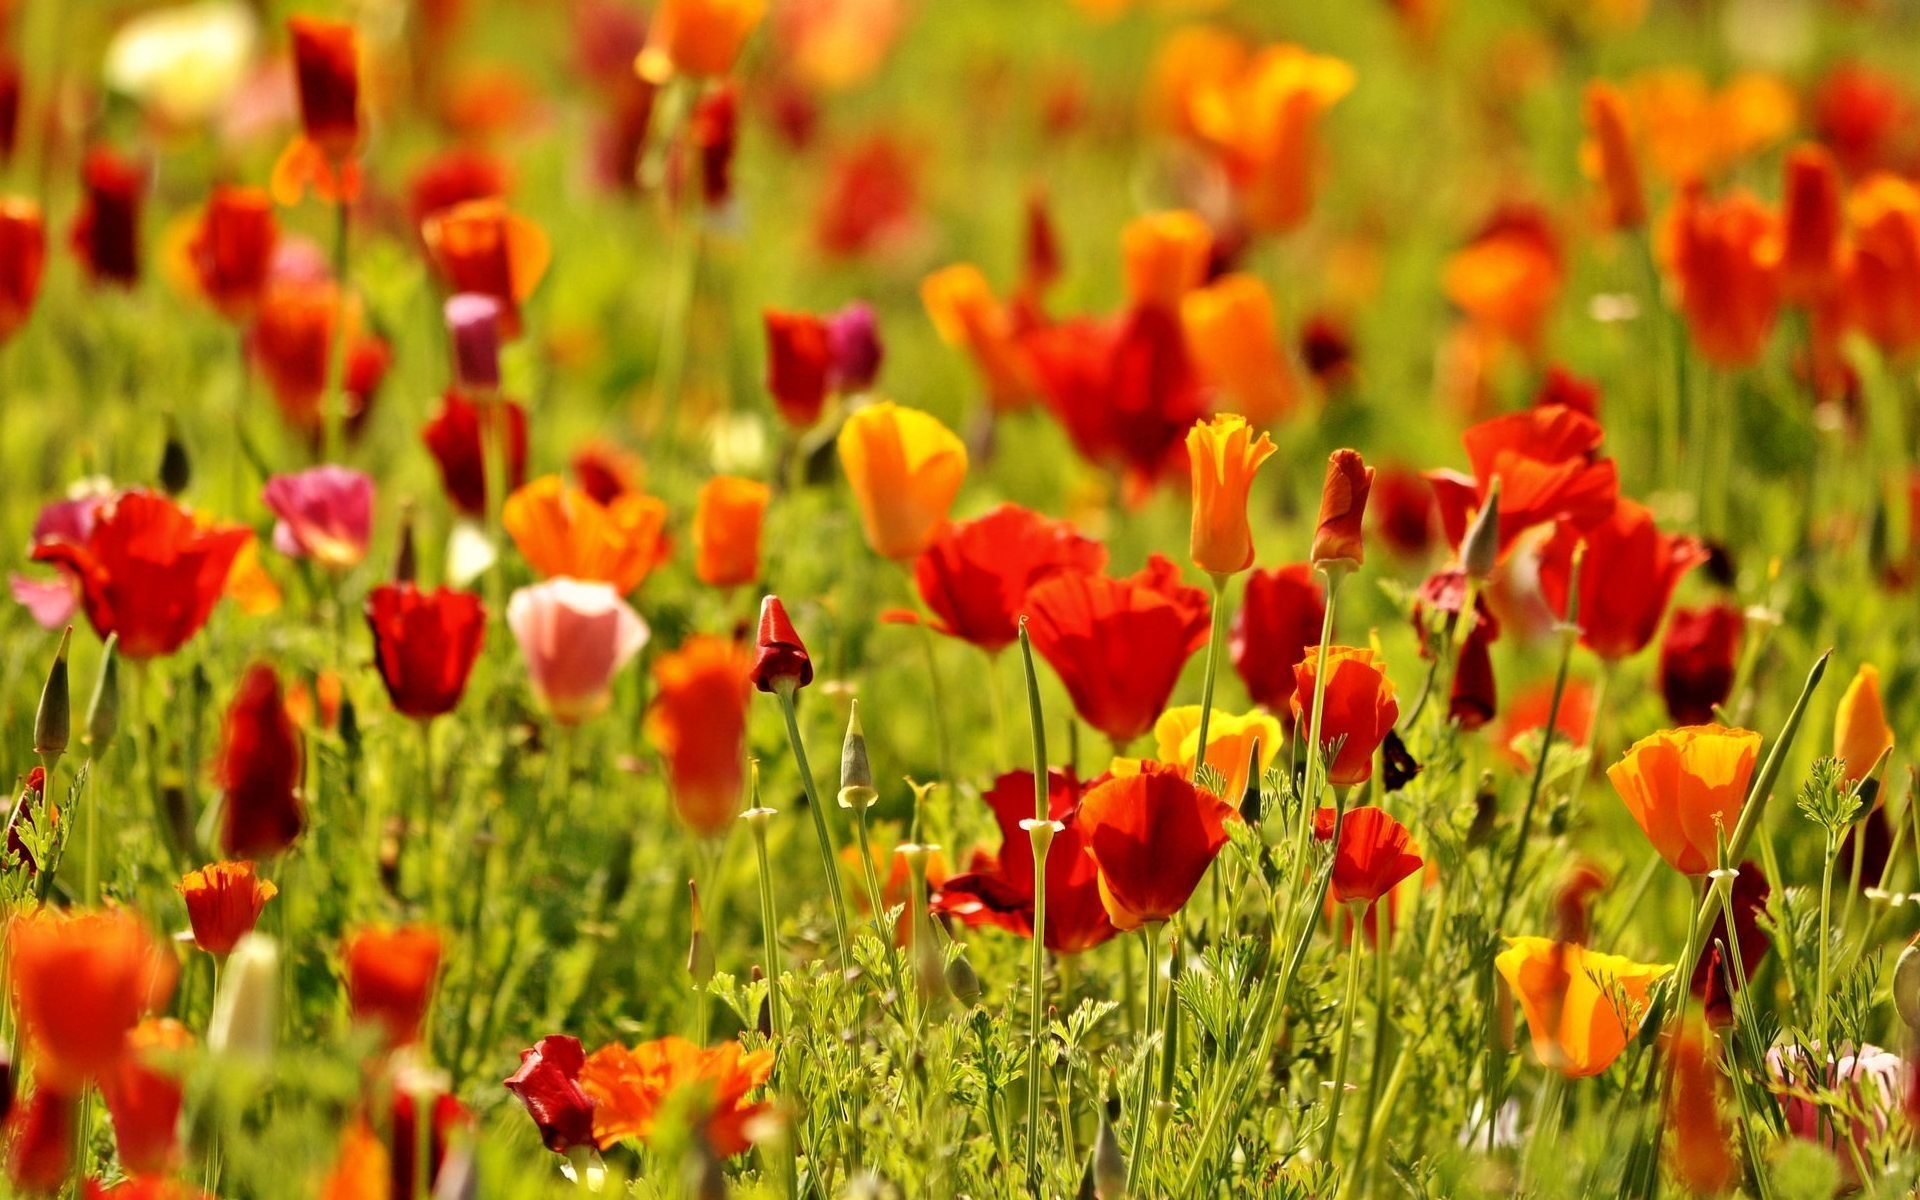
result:
<svg viewBox="0 0 1920 1200"><path fill-rule="evenodd" d="M1227 845L1227 822L1236 820L1231 804L1164 762L1096 783L1077 824L1114 927L1139 929L1177 914Z"/></svg>

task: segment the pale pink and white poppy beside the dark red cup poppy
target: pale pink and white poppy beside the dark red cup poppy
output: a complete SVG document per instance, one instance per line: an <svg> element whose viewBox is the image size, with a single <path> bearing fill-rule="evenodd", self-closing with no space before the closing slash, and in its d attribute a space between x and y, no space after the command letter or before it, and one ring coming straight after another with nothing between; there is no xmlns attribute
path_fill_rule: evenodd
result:
<svg viewBox="0 0 1920 1200"><path fill-rule="evenodd" d="M647 622L609 584L566 576L520 588L507 601L534 695L574 726L607 710L612 676L647 645Z"/></svg>

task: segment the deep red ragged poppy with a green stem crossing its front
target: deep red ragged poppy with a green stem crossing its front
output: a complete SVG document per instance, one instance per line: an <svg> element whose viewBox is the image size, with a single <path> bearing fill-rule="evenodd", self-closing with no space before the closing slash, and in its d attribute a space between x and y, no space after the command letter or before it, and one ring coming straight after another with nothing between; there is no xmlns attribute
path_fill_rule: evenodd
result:
<svg viewBox="0 0 1920 1200"><path fill-rule="evenodd" d="M1085 785L1062 770L1046 772L1046 816L1060 822L1046 851L1046 937L1054 954L1079 954L1119 933L1100 899L1100 872L1087 852L1079 820ZM993 925L1033 937L1033 839L1021 822L1033 820L1033 772L1008 772L981 797L1000 828L996 852L975 851L968 870L950 876L933 895L933 912L968 925Z"/></svg>

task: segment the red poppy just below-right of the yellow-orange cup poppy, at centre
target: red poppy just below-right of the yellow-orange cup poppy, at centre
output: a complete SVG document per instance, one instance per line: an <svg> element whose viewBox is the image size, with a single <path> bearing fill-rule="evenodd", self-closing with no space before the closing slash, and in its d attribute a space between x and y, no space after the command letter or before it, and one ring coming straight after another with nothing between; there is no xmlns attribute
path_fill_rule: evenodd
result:
<svg viewBox="0 0 1920 1200"><path fill-rule="evenodd" d="M989 655L1020 637L1027 591L1060 572L1106 568L1106 547L1014 503L973 520L947 524L914 561L920 599L933 628Z"/></svg>

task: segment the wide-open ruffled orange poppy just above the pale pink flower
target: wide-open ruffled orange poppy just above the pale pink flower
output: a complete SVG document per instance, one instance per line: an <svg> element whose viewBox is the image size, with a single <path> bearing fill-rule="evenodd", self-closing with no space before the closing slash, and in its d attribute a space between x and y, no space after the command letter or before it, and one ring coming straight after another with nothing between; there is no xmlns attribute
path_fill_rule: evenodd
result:
<svg viewBox="0 0 1920 1200"><path fill-rule="evenodd" d="M628 492L599 503L557 476L507 497L501 524L541 578L612 584L626 595L666 561L666 501Z"/></svg>

